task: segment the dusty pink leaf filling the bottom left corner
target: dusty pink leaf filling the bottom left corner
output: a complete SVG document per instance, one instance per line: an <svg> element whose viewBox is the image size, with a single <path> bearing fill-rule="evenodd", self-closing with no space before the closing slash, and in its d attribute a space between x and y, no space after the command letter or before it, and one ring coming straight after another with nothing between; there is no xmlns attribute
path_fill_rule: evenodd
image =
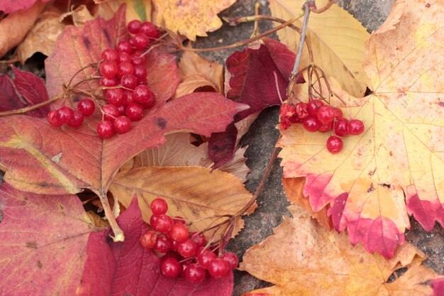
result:
<svg viewBox="0 0 444 296"><path fill-rule="evenodd" d="M75 195L0 186L0 295L75 295L91 221Z"/></svg>

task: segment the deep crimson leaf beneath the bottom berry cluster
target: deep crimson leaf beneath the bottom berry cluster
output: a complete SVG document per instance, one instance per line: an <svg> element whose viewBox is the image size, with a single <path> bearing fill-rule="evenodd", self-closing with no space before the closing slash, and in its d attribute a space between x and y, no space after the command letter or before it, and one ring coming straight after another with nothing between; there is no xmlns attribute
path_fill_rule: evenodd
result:
<svg viewBox="0 0 444 296"><path fill-rule="evenodd" d="M148 226L142 220L137 198L117 221L127 234L123 243L111 242L110 229L89 236L77 295L229 296L233 292L233 273L219 279L207 276L200 284L181 277L165 278L160 272L161 259L139 242Z"/></svg>

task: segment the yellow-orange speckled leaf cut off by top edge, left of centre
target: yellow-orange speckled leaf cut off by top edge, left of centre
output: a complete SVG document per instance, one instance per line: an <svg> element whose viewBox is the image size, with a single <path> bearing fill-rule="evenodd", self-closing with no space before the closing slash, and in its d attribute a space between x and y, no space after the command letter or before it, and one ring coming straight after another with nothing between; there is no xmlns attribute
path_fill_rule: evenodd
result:
<svg viewBox="0 0 444 296"><path fill-rule="evenodd" d="M206 36L206 32L221 28L222 21L217 14L228 9L235 0L153 0L155 23L170 31L196 40L196 36Z"/></svg>

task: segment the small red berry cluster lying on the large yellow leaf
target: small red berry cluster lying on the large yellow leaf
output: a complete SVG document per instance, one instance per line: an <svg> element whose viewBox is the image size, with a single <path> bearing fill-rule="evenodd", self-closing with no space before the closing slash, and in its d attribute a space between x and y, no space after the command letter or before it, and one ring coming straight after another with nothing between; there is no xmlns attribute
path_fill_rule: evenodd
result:
<svg viewBox="0 0 444 296"><path fill-rule="evenodd" d="M357 136L364 131L364 123L359 119L345 119L339 108L323 104L319 99L310 99L309 103L282 104L279 110L281 128L286 130L292 124L301 123L306 131L332 131L333 136L327 139L327 149L339 153L343 148L340 137Z"/></svg>

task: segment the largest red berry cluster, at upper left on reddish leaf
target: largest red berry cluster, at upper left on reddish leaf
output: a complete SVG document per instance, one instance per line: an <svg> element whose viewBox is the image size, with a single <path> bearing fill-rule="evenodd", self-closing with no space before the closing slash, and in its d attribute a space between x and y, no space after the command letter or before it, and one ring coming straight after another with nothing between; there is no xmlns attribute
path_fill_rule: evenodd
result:
<svg viewBox="0 0 444 296"><path fill-rule="evenodd" d="M100 72L96 79L99 79L104 96L81 99L75 110L62 106L51 111L49 124L81 126L84 116L93 114L97 104L102 113L97 134L101 138L111 138L114 133L129 131L131 121L139 121L144 109L155 105L155 94L147 87L145 60L152 43L160 38L160 29L153 23L137 20L128 23L127 28L131 36L121 40L115 50L106 48L101 53L102 60L96 64Z"/></svg>

